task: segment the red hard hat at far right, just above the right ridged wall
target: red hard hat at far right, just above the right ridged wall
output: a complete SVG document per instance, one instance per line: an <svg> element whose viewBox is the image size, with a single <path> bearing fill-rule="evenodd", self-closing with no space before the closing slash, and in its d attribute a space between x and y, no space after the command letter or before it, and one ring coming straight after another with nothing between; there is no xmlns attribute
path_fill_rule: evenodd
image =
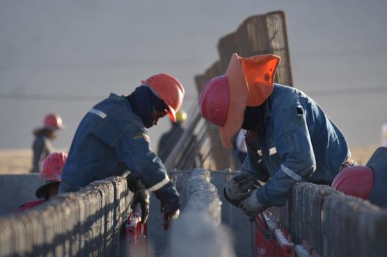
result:
<svg viewBox="0 0 387 257"><path fill-rule="evenodd" d="M347 167L333 179L331 187L345 194L368 199L374 186L374 171L367 166Z"/></svg>

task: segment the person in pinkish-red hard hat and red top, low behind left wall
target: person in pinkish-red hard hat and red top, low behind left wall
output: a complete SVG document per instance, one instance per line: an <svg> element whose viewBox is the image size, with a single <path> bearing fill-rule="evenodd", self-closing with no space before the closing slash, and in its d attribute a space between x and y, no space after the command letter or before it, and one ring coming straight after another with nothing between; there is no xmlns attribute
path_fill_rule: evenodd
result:
<svg viewBox="0 0 387 257"><path fill-rule="evenodd" d="M63 152L54 152L43 160L39 176L40 179L45 180L46 183L35 192L38 200L29 201L28 203L20 206L16 213L22 213L24 210L43 204L45 201L48 201L58 194L62 168L65 165L67 158L68 155Z"/></svg>

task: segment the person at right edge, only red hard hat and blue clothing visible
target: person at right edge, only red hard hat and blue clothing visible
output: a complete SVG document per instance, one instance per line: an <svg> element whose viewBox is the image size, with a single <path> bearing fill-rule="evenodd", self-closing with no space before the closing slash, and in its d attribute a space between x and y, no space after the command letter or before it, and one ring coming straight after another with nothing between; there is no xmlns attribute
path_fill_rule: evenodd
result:
<svg viewBox="0 0 387 257"><path fill-rule="evenodd" d="M365 166L343 169L332 188L387 208L387 147L379 147Z"/></svg>

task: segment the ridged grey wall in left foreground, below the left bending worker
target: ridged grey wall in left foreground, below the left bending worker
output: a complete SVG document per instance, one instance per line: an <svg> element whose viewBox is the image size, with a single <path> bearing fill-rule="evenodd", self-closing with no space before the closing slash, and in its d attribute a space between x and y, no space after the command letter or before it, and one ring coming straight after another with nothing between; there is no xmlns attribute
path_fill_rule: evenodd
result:
<svg viewBox="0 0 387 257"><path fill-rule="evenodd" d="M0 256L118 256L132 193L121 177L0 218Z"/></svg>

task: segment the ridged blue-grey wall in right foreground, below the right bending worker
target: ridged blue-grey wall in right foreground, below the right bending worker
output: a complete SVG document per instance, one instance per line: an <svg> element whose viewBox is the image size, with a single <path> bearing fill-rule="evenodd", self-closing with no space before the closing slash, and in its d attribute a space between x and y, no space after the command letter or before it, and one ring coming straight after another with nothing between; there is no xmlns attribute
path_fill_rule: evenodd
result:
<svg viewBox="0 0 387 257"><path fill-rule="evenodd" d="M387 256L387 210L326 185L294 184L281 223L320 256Z"/></svg>

